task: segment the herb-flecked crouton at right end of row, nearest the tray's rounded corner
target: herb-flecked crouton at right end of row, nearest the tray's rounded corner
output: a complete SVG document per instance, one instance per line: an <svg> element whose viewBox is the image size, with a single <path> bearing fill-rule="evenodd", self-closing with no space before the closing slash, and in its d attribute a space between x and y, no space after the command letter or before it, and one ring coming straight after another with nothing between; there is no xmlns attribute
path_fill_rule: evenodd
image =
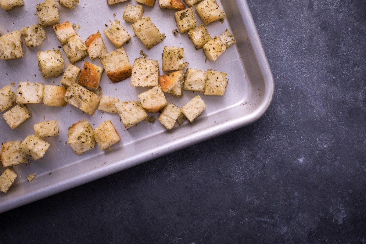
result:
<svg viewBox="0 0 366 244"><path fill-rule="evenodd" d="M224 72L208 70L206 73L205 95L223 96L228 85L226 75Z"/></svg>

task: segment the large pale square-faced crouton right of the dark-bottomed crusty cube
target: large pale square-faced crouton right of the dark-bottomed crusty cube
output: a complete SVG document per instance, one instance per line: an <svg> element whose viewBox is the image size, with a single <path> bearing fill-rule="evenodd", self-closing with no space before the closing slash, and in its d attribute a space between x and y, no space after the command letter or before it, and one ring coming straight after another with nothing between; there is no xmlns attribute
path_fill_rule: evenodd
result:
<svg viewBox="0 0 366 244"><path fill-rule="evenodd" d="M132 65L131 86L157 86L159 66L157 60L139 57Z"/></svg>

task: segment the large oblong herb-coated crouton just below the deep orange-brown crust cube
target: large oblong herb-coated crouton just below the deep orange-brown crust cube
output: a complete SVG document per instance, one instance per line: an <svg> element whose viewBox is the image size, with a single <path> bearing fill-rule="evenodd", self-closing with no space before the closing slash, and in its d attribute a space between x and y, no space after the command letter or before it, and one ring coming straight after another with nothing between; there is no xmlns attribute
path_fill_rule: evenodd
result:
<svg viewBox="0 0 366 244"><path fill-rule="evenodd" d="M83 112L94 115L97 110L100 97L76 83L71 83L65 93L65 101Z"/></svg>

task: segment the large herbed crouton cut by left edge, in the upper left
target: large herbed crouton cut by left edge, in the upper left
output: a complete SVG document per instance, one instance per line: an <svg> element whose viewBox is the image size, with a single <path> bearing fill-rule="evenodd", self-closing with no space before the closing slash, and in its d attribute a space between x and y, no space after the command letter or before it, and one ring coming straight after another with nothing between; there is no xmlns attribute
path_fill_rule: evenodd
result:
<svg viewBox="0 0 366 244"><path fill-rule="evenodd" d="M10 60L23 57L22 34L15 30L0 37L0 59Z"/></svg>

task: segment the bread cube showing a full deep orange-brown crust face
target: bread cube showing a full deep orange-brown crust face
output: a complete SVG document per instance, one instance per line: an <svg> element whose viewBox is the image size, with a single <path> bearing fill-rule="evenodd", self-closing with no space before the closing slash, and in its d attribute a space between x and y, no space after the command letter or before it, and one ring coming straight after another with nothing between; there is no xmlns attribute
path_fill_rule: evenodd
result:
<svg viewBox="0 0 366 244"><path fill-rule="evenodd" d="M102 79L103 71L104 68L85 61L79 76L79 85L97 89L99 87L99 82Z"/></svg>

